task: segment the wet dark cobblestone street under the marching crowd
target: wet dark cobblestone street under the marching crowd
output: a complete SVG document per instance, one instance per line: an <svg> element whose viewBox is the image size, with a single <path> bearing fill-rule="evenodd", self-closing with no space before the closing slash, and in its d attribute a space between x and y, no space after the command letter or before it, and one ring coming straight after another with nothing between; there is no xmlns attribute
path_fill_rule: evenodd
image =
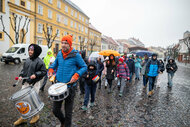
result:
<svg viewBox="0 0 190 127"><path fill-rule="evenodd" d="M21 88L21 84L12 87L22 68L22 64L5 65L0 63L0 126L12 127L19 115L9 100L9 97ZM178 71L174 76L174 86L167 87L166 71L158 78L152 97L147 96L147 90L143 89L142 77L140 81L127 84L124 95L119 97L119 91L114 81L113 92L107 93L102 86L97 89L95 106L87 112L81 110L84 96L76 92L73 127L189 127L190 126L190 68L178 65ZM45 91L40 92L40 98L45 103L40 112L40 120L30 125L29 122L19 127L56 127L59 121L51 111L52 102L48 99L47 90L51 85L46 85ZM64 108L64 106L63 106ZM58 127L58 126L57 126Z"/></svg>

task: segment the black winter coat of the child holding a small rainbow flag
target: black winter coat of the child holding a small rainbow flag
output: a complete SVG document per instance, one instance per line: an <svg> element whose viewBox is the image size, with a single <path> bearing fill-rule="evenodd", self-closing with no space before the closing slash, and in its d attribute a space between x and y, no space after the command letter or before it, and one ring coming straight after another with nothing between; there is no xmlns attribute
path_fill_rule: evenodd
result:
<svg viewBox="0 0 190 127"><path fill-rule="evenodd" d="M94 69L91 70L89 67L90 66L94 66ZM87 77L87 75L89 75L89 77ZM88 70L87 72L84 74L85 77L85 82L87 83L87 85L95 85L96 83L92 81L92 79L97 75L97 67L95 62L90 62L88 64Z"/></svg>

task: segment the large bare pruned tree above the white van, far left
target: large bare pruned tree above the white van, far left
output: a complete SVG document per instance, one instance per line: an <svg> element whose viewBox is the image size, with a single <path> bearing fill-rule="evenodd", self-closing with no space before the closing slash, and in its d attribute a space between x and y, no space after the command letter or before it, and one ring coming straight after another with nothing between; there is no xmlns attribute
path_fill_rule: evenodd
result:
<svg viewBox="0 0 190 127"><path fill-rule="evenodd" d="M22 18L23 18L23 16L18 17L18 15L16 15L15 13L12 13L12 17L9 17L9 20L10 20L10 23L11 23L11 28L13 29L13 31L15 33L15 39L13 39L10 36L10 33L8 33L5 30L5 25L4 25L4 22L3 22L3 16L2 15L0 16L1 24L3 26L3 32L9 37L9 39L11 40L11 42L13 44L18 44L19 43L19 37L21 37L20 38L20 40L21 40L20 43L23 43L24 38L25 38L25 36L26 36L26 34L28 32L28 25L30 23L30 19L28 19L28 16L25 16L24 24L22 26L22 29L20 29L20 24L21 24ZM25 29L26 29L26 31L25 31ZM21 32L20 32L20 30L21 30ZM20 34L22 34L22 35L20 35Z"/></svg>

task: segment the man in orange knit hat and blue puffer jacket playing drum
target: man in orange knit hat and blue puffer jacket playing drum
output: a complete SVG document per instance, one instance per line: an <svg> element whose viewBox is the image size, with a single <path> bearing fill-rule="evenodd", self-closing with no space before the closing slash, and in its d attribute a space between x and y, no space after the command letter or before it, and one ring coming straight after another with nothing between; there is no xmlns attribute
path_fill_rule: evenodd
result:
<svg viewBox="0 0 190 127"><path fill-rule="evenodd" d="M61 111L63 100L53 102L53 114L61 122L61 127L71 127L76 81L87 71L87 65L79 52L72 48L71 35L62 38L61 47L62 50L58 52L54 63L49 67L49 76L57 70L56 80L62 83L70 82L72 85L68 85L69 96L65 99L65 117Z"/></svg>

